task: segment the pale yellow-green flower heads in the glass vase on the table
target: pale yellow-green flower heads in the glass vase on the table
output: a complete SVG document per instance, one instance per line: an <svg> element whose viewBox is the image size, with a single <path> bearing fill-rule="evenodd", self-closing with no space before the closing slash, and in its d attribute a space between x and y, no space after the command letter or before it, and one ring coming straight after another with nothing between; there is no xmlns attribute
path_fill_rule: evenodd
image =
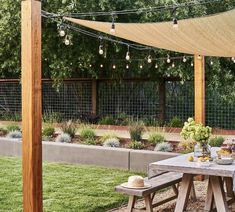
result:
<svg viewBox="0 0 235 212"><path fill-rule="evenodd" d="M180 135L185 140L190 138L201 145L207 145L211 136L211 131L211 127L197 124L193 118L188 118L188 121L184 123Z"/></svg>

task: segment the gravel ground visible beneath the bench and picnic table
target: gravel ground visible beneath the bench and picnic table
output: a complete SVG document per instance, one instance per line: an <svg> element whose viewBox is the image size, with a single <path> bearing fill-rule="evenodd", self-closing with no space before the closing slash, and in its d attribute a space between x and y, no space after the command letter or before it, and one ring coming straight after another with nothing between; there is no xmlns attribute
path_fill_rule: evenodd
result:
<svg viewBox="0 0 235 212"><path fill-rule="evenodd" d="M203 181L203 182L195 182L195 190L196 190L196 195L197 195L197 202L192 202L189 201L188 203L188 207L187 207L187 211L189 212L203 212L203 208L204 208L204 202L205 202L205 197L206 197L206 186L207 186L207 181ZM164 192L160 192L156 195L155 197L155 201L156 198L158 199L162 199L165 198L167 196L172 195L173 192L171 189L164 191ZM175 203L176 200L173 200L171 202L165 203L164 205L161 205L159 207L154 208L153 211L155 212L173 212L174 208L175 208ZM136 204L136 207L141 207L143 206L143 201L139 201ZM111 210L112 212L124 212L126 211L126 206L120 207L118 209L113 209ZM229 207L229 212L235 212L235 204L233 204L232 206Z"/></svg>

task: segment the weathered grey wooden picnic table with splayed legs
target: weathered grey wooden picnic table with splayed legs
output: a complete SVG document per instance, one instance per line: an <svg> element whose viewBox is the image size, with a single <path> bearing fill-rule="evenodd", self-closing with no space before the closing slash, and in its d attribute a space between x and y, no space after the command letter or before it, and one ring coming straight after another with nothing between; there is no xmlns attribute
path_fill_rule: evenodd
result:
<svg viewBox="0 0 235 212"><path fill-rule="evenodd" d="M218 148L212 148L212 156L216 155ZM217 211L227 212L228 204L234 202L233 181L235 174L235 163L232 165L218 165L211 162L209 167L202 167L198 162L189 162L187 158L193 153L180 155L174 158L158 161L149 165L149 175L159 171L170 171L183 173L183 179L179 190L179 196L176 202L175 212L181 212L186 209L187 201L193 184L195 175L208 175L207 197L205 202L205 211L211 211L213 204ZM231 197L226 200L223 187L223 180L226 182L227 196Z"/></svg>

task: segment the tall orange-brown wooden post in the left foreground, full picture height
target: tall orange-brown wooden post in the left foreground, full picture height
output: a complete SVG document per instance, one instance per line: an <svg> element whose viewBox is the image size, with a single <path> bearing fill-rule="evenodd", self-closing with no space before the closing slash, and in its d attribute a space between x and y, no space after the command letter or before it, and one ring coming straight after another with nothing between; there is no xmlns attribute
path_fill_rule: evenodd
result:
<svg viewBox="0 0 235 212"><path fill-rule="evenodd" d="M23 209L41 212L41 1L22 0Z"/></svg>

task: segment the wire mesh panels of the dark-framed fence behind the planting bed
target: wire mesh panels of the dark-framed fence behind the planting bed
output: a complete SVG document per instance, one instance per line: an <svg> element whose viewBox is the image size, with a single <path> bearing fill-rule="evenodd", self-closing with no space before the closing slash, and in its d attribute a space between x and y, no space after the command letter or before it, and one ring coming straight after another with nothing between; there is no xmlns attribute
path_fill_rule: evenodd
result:
<svg viewBox="0 0 235 212"><path fill-rule="evenodd" d="M59 92L52 82L43 82L43 118L48 121L80 119L92 116L92 81L65 81ZM182 121L194 114L193 82L166 82L165 122L177 116ZM229 98L228 98L229 99ZM235 100L235 99L234 99ZM235 101L226 100L219 90L206 86L206 124L223 129L235 128ZM149 125L159 123L159 83L152 81L98 81L97 116L118 117ZM21 85L0 82L0 119L20 120ZM51 120L52 119L52 120ZM54 119L54 120L53 120Z"/></svg>

